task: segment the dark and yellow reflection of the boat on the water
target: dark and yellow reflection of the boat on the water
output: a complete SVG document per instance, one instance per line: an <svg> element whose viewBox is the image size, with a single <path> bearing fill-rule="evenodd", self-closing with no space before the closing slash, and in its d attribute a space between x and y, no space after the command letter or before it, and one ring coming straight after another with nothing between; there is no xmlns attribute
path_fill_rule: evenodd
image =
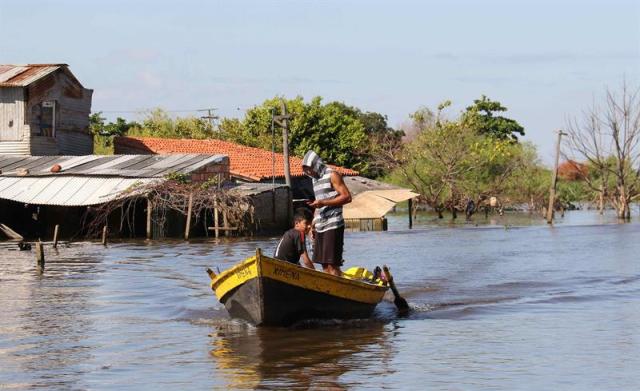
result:
<svg viewBox="0 0 640 391"><path fill-rule="evenodd" d="M347 372L375 376L391 369L393 346L385 334L392 328L375 320L288 329L230 323L215 327L211 355L233 389L343 389Z"/></svg>

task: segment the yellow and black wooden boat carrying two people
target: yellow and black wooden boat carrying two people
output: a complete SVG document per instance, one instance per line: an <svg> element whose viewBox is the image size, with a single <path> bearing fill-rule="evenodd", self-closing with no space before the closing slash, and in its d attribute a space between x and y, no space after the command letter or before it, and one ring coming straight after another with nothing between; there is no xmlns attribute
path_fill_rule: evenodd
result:
<svg viewBox="0 0 640 391"><path fill-rule="evenodd" d="M364 268L337 277L267 257L260 249L219 275L207 271L211 289L229 314L257 326L368 318L389 289Z"/></svg>

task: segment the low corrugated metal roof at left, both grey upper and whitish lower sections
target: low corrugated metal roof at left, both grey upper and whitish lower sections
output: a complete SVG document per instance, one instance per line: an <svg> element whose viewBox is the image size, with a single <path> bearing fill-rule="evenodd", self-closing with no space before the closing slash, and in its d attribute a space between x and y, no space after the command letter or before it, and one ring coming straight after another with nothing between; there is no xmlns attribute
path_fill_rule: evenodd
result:
<svg viewBox="0 0 640 391"><path fill-rule="evenodd" d="M58 173L51 167L60 164ZM0 155L0 198L36 205L87 206L122 197L136 184L189 174L209 164L228 164L224 155ZM20 170L29 173L20 175ZM128 194L127 194L128 195Z"/></svg>

